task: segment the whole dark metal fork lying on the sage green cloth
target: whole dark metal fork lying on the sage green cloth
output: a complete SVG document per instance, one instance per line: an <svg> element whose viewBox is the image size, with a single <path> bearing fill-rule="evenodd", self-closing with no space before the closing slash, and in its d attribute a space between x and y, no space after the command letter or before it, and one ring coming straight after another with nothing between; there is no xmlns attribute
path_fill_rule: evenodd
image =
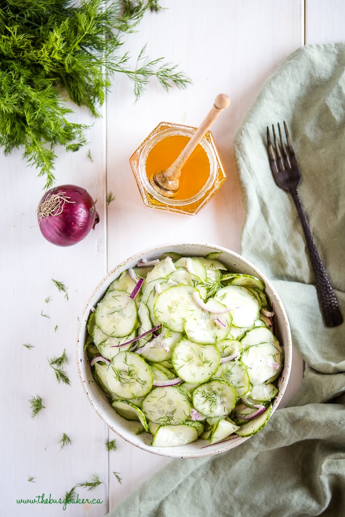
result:
<svg viewBox="0 0 345 517"><path fill-rule="evenodd" d="M336 327L341 325L343 321L342 315L339 309L338 300L333 291L331 282L329 281L319 251L312 236L306 213L303 209L301 200L299 199L297 187L301 183L302 174L301 170L299 169L295 151L293 150L289 131L285 122L284 130L286 134L287 148L284 144L280 125L278 124L280 145L278 143L274 125L272 126L273 142L275 147L274 149L271 135L269 134L269 128L267 127L269 165L271 166L271 171L278 187L287 190L289 194L291 194L292 199L296 205L298 216L301 220L303 232L307 242L312 270L316 280L316 289L323 320L327 327Z"/></svg>

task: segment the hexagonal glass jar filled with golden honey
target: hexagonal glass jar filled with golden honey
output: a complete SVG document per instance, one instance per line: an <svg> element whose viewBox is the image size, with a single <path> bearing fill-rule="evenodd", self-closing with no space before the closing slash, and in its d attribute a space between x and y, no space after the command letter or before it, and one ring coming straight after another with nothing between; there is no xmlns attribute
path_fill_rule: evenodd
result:
<svg viewBox="0 0 345 517"><path fill-rule="evenodd" d="M184 177L185 185L189 184L187 185L188 189L185 188L185 190L181 189L180 191L179 188L176 196L166 197L158 193L151 185L149 181L150 174L167 169L179 154L179 151L175 149L175 144L173 145L175 155L173 155L173 150L169 148L173 142L171 138L179 137L180 150L182 150L195 130L196 128L191 126L161 122L130 157L129 162L146 206L179 212L180 214L194 215L201 210L226 180L227 175L213 135L211 131L208 131L185 165L186 168L187 164L189 167L188 177L186 174ZM171 156L170 151L172 152ZM198 159L194 158L194 153L197 158L199 157L199 162ZM149 171L148 165L150 162L153 162L154 154L157 155L155 156L155 163L159 163L159 170ZM196 178L201 177L201 168L204 169L203 178L205 180L201 180L202 183L200 184L199 179L198 185ZM184 168L182 168L181 178L183 171ZM184 196L183 192L187 192L187 195Z"/></svg>

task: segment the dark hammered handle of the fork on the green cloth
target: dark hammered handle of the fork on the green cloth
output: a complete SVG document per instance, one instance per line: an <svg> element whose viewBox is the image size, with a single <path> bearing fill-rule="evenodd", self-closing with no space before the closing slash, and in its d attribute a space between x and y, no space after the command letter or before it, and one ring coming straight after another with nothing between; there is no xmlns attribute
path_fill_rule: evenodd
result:
<svg viewBox="0 0 345 517"><path fill-rule="evenodd" d="M306 238L311 267L316 280L316 290L319 298L320 308L326 327L337 327L343 322L337 297L333 291L331 282L321 260L319 251L312 236L308 219L297 190L290 191L296 205L299 219L301 220L303 232Z"/></svg>

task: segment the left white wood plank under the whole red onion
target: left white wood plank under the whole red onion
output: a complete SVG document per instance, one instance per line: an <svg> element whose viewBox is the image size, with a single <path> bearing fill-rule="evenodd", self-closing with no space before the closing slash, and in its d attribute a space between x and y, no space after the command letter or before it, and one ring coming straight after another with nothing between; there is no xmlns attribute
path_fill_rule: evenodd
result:
<svg viewBox="0 0 345 517"><path fill-rule="evenodd" d="M83 110L76 119L94 123ZM58 515L62 505L16 501L35 497L39 501L43 493L44 499L50 494L55 499L64 497L77 483L91 481L95 473L103 484L92 494L103 503L92 505L87 515L96 516L107 509L108 452L104 443L108 430L85 397L75 352L78 317L106 272L104 119L96 121L88 137L91 143L77 153L58 151L56 185L71 183L86 188L98 199L101 222L85 240L68 248L51 245L37 226L35 211L44 180L36 178L35 170L26 169L19 151L0 158L4 194L0 254L4 293L0 381L3 515ZM93 162L87 157L88 150ZM67 287L68 301L54 286L53 278ZM23 343L34 348L29 350ZM71 386L57 383L47 360L61 356L64 349ZM32 418L28 399L37 394L45 408ZM72 444L61 450L63 433ZM34 482L29 482L29 477L34 477ZM79 488L78 493L80 497L91 494L85 488ZM66 515L82 515L86 506L69 505Z"/></svg>

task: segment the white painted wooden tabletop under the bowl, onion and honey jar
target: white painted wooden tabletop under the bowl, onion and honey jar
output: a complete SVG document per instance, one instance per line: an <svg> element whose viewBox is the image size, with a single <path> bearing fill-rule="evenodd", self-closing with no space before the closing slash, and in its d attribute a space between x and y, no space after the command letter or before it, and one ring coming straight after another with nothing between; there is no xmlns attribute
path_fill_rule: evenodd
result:
<svg viewBox="0 0 345 517"><path fill-rule="evenodd" d="M264 81L291 52L304 44L343 38L345 3L340 0L163 0L161 5L166 10L147 14L139 31L126 38L124 50L136 56L147 42L151 58L179 64L193 85L167 94L152 81L135 103L129 80L117 75L102 118L76 110L76 119L94 124L89 143L78 153L59 151L56 185L80 185L98 200L101 222L94 232L76 246L50 245L35 219L43 180L26 168L20 151L1 157L0 515L6 517L61 515L62 505L17 500L64 497L94 474L102 483L93 492L79 488L78 494L102 502L70 504L64 514L104 515L169 462L127 444L94 412L77 373L78 318L103 276L141 249L185 240L240 251L244 213L233 159L234 131ZM132 151L162 120L197 126L218 93L232 99L213 127L228 173L226 184L195 217L145 207L128 163ZM107 206L110 191L115 200ZM66 285L68 300L52 279ZM57 383L47 360L64 349L71 386ZM285 402L301 384L302 371L295 354ZM32 418L28 399L37 394L45 408ZM63 433L72 443L61 449ZM108 452L106 443L113 439L117 450Z"/></svg>

